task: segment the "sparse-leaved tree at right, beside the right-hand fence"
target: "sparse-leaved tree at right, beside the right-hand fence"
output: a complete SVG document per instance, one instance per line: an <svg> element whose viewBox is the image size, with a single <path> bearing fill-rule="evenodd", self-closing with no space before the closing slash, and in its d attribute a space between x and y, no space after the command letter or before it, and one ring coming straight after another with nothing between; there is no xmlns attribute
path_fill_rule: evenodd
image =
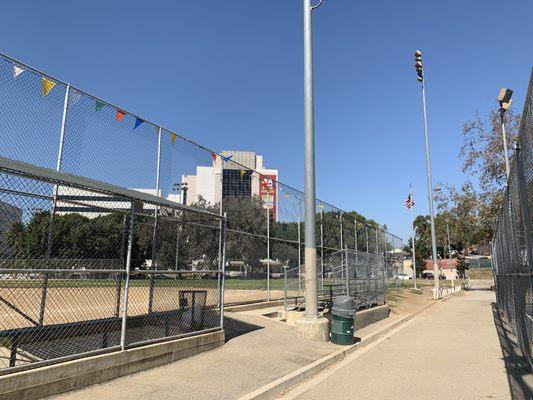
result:
<svg viewBox="0 0 533 400"><path fill-rule="evenodd" d="M507 147L511 149L518 134L520 115L508 110L505 118ZM468 179L459 187L446 186L437 193L436 231L438 242L446 243L442 222L448 221L452 244L468 253L471 245L490 243L501 208L506 177L499 112L492 111L487 120L476 114L464 124L462 134L459 157Z"/></svg>

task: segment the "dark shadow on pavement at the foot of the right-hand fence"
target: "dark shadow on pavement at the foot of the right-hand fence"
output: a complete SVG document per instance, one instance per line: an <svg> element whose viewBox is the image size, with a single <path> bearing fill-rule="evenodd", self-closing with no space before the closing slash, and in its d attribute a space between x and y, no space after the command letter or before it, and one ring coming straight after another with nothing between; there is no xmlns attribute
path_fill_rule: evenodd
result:
<svg viewBox="0 0 533 400"><path fill-rule="evenodd" d="M529 362L522 355L516 337L498 311L496 303L492 303L492 315L502 348L511 396L513 400L531 400L533 399L533 374L529 369Z"/></svg>

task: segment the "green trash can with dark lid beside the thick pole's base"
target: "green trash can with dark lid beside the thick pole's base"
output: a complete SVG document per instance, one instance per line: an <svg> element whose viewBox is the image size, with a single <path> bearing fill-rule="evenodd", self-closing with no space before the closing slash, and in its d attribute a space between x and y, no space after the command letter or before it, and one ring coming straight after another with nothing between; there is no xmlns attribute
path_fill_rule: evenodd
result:
<svg viewBox="0 0 533 400"><path fill-rule="evenodd" d="M353 297L337 296L331 309L331 343L350 345L354 343Z"/></svg>

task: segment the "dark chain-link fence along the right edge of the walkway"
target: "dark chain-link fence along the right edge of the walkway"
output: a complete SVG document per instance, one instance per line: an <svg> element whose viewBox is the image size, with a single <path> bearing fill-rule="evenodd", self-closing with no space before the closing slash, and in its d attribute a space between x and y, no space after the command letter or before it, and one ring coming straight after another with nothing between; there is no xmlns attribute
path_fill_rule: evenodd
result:
<svg viewBox="0 0 533 400"><path fill-rule="evenodd" d="M499 309L533 371L533 71L493 241Z"/></svg>

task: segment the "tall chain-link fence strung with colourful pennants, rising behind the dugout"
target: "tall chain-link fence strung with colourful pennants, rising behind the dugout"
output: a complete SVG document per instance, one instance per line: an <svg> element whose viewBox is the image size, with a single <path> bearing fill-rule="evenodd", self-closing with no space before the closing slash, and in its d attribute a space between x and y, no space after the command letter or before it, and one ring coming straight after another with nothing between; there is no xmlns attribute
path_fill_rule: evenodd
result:
<svg viewBox="0 0 533 400"><path fill-rule="evenodd" d="M1 54L0 116L0 156L227 213L227 303L281 299L283 268L304 263L304 195L260 155L212 151ZM318 257L389 246L401 256L402 240L374 221L321 200L316 211Z"/></svg>

